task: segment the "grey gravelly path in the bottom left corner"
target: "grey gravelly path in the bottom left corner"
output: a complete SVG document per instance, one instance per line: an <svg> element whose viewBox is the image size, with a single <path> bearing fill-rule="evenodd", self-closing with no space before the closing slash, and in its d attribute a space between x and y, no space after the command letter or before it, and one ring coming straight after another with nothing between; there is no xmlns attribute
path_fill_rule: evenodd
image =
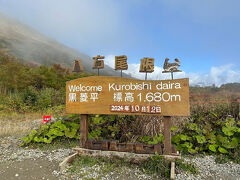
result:
<svg viewBox="0 0 240 180"><path fill-rule="evenodd" d="M58 165L73 153L70 148L43 151L23 148L19 144L19 137L0 138L1 180L67 179Z"/></svg>

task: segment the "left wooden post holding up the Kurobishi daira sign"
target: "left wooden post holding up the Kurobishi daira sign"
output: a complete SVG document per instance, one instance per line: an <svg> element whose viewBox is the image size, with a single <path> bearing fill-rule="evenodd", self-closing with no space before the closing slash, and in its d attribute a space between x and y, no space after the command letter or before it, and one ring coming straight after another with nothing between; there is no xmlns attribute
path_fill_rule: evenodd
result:
<svg viewBox="0 0 240 180"><path fill-rule="evenodd" d="M88 115L81 115L81 124L80 124L80 147L84 148L88 140Z"/></svg>

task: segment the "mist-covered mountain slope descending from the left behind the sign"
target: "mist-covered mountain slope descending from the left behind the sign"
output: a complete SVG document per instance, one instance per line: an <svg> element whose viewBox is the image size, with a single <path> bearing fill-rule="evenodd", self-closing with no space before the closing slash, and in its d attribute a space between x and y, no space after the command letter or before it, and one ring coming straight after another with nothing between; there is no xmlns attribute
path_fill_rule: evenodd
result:
<svg viewBox="0 0 240 180"><path fill-rule="evenodd" d="M96 70L92 69L93 60L89 56L47 38L29 26L1 13L0 50L24 61L44 65L61 64L72 67L73 61L80 58L86 72L96 73ZM101 75L113 76L116 72L105 65Z"/></svg>

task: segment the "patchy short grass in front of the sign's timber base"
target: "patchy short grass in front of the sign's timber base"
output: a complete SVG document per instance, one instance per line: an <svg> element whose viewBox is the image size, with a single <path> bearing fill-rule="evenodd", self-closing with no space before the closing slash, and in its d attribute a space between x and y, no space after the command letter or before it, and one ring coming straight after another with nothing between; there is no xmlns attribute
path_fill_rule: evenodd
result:
<svg viewBox="0 0 240 180"><path fill-rule="evenodd" d="M83 179L91 179L93 176L95 179L101 179L109 174L114 177L120 176L120 179L129 178L130 176L131 178L138 179L139 177L132 177L135 172L138 175L145 174L153 179L168 179L170 176L170 167L171 162L157 154L139 164L126 162L124 159L81 156L75 159L68 172L78 174ZM185 163L182 160L176 162L176 167L191 174L198 173L195 166Z"/></svg>

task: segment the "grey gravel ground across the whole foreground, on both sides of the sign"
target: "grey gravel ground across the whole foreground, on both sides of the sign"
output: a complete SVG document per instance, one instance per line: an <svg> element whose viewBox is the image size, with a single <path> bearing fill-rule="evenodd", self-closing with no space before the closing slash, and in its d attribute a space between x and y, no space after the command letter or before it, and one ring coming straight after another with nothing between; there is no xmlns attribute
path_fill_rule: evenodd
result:
<svg viewBox="0 0 240 180"><path fill-rule="evenodd" d="M58 164L71 154L71 149L42 151L19 147L19 137L0 138L0 179L33 180L33 179L158 179L144 174L138 168L121 167L108 174L102 174L104 167L84 167L81 173L74 174L67 170L60 172ZM240 165L228 162L216 164L213 156L184 157L185 161L196 165L199 174L194 176L178 171L176 179L222 179L240 180ZM83 178L84 177L84 178Z"/></svg>

